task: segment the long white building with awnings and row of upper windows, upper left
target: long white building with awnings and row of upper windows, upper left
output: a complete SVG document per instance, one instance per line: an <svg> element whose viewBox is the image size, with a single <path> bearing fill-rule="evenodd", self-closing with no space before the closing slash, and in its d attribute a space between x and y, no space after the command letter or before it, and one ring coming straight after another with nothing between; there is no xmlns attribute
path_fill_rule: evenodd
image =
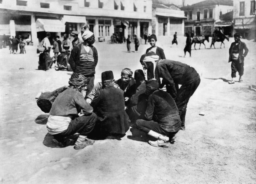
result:
<svg viewBox="0 0 256 184"><path fill-rule="evenodd" d="M96 41L113 33L151 34L152 0L0 0L0 35L45 37L70 34L88 25Z"/></svg>

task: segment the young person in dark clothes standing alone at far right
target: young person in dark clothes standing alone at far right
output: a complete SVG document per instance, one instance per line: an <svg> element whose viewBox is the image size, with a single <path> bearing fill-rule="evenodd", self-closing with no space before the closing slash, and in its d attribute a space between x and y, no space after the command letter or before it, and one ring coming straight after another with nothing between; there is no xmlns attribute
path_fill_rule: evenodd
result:
<svg viewBox="0 0 256 184"><path fill-rule="evenodd" d="M248 54L248 48L244 42L240 40L240 34L234 34L235 42L231 43L229 49L229 59L228 62L231 62L231 77L232 80L230 84L235 83L236 72L239 74L239 82L242 82L242 76L244 74L244 57Z"/></svg>

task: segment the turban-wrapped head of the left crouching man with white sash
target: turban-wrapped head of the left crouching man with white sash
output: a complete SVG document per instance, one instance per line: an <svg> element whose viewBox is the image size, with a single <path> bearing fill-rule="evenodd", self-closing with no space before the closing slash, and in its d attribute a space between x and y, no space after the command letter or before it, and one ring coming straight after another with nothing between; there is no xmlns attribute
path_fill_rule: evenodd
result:
<svg viewBox="0 0 256 184"><path fill-rule="evenodd" d="M81 91L81 89L87 86L87 82L88 82L88 79L84 75L73 73L68 83L70 87L73 87L78 91Z"/></svg>

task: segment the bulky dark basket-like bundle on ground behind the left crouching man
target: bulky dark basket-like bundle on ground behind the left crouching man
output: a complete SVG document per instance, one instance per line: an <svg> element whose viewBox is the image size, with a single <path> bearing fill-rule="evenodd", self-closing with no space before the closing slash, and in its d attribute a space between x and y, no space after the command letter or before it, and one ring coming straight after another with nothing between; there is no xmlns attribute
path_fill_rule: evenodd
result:
<svg viewBox="0 0 256 184"><path fill-rule="evenodd" d="M56 89L55 91L42 93L36 101L38 107L44 113L49 113L52 108L52 103L55 101L58 94L65 91L67 88L67 86L63 86L61 88Z"/></svg>

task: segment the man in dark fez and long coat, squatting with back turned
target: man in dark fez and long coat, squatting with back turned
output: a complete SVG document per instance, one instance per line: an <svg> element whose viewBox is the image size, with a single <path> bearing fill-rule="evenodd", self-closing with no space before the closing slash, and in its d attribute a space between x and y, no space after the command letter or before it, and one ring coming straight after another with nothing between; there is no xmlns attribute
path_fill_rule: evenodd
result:
<svg viewBox="0 0 256 184"><path fill-rule="evenodd" d="M125 136L129 130L128 115L125 113L124 92L113 86L113 73L102 72L102 90L96 92L91 102L97 114L94 132L103 139L115 139Z"/></svg>

